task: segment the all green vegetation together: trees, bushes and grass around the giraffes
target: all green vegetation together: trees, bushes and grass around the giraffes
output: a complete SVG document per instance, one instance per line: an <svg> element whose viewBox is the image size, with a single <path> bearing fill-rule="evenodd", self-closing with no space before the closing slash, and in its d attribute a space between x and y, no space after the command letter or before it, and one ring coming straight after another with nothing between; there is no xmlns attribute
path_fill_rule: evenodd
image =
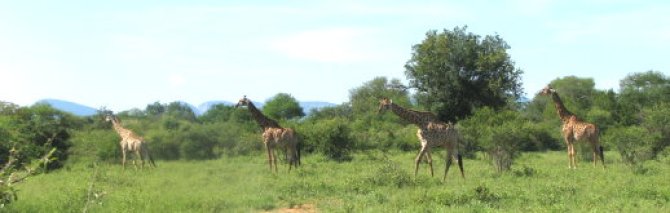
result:
<svg viewBox="0 0 670 213"><path fill-rule="evenodd" d="M577 148L580 169L567 170L551 99L518 102L521 71L507 45L497 35L480 38L465 28L429 32L406 66L414 94L398 79L377 77L351 89L347 102L305 114L294 97L278 93L262 111L298 133L303 166L291 173L269 172L261 129L246 109L220 104L198 116L185 103L155 102L116 113L159 161L156 169L124 172L120 138L104 121L109 110L82 118L2 102L0 177L3 184L25 180L0 188L2 210L668 210L670 78L632 73L619 91L576 76L549 82L570 111L598 125L606 150L606 170L587 166L586 146ZM467 179L453 172L444 183L425 173L413 178L417 127L379 114L384 97L454 121ZM444 168L444 155L433 150L435 168Z"/></svg>

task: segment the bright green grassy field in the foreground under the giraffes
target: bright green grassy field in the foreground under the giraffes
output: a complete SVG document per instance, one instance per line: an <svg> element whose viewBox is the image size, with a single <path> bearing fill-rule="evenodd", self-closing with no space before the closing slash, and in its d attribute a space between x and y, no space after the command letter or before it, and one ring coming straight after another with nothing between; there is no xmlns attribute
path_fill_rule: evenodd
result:
<svg viewBox="0 0 670 213"><path fill-rule="evenodd" d="M670 165L632 169L606 153L608 168L564 152L525 153L513 171L494 172L484 158L465 159L466 179L434 152L436 176L415 153L359 153L337 163L309 155L303 166L269 173L264 155L211 161L159 161L158 168L69 165L21 184L8 212L670 212ZM442 153L444 155L444 153ZM292 208L292 209L289 209Z"/></svg>

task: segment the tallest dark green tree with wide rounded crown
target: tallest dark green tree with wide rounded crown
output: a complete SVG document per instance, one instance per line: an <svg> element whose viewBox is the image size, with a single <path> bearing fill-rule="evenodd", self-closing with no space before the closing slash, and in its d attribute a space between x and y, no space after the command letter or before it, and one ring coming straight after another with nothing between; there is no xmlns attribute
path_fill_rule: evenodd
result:
<svg viewBox="0 0 670 213"><path fill-rule="evenodd" d="M482 39L467 33L466 27L432 30L413 46L405 74L410 87L424 94L420 104L436 111L441 120L455 121L475 108L499 109L521 96L523 71L514 67L509 48L498 35Z"/></svg>

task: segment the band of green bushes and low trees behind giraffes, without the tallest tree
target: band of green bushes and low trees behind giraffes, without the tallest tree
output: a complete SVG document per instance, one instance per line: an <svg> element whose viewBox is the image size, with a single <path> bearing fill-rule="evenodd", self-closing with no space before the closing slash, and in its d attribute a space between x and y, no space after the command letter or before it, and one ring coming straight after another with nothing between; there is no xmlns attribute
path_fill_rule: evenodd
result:
<svg viewBox="0 0 670 213"><path fill-rule="evenodd" d="M641 80L645 79L645 80ZM588 122L598 125L606 150L622 154L627 163L670 154L670 78L660 72L631 74L621 80L621 89L601 91L593 79L574 76L550 82L566 107ZM417 128L393 113L378 113L381 97L412 109L424 109L416 95L398 89L400 81L375 78L350 91L348 102L313 110L304 115L295 98L280 93L269 99L263 112L285 127L297 130L304 153L320 153L334 160L349 160L352 151L417 151ZM250 97L252 98L252 97ZM270 106L270 107L268 107ZM57 148L56 161L106 161L120 159L120 138L101 109L97 115L76 117L38 104L18 107L3 103L0 134L5 139L0 159L10 149L21 150L22 159L37 158ZM246 108L214 105L201 116L181 102L153 103L145 109L117 113L124 126L145 137L151 152L160 160L202 160L222 156L260 154L261 129ZM535 96L529 102L510 101L496 110L475 109L459 120L463 135L461 152L473 156L484 152L503 165L525 151L562 150L560 120L551 99ZM584 159L590 147L584 146ZM579 151L578 150L578 151ZM508 159L508 160L505 160Z"/></svg>

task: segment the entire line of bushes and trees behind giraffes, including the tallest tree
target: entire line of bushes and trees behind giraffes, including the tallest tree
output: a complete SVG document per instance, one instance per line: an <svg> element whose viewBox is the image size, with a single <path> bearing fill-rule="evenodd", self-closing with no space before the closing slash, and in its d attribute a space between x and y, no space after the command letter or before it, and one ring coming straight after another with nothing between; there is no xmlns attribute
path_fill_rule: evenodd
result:
<svg viewBox="0 0 670 213"><path fill-rule="evenodd" d="M262 111L294 128L305 153L349 160L352 151L418 150L415 126L393 113L378 113L379 100L390 98L456 123L463 137L462 154L487 153L496 168L505 170L523 151L564 148L551 99L527 94L532 100L520 101L523 71L514 67L509 48L498 35L482 37L466 27L429 31L413 46L405 65L408 85L378 77L351 89L347 102L309 113L290 94L279 93ZM605 149L621 153L625 162L669 154L670 79L663 73L630 74L620 81L618 91L597 90L593 79L575 76L547 83L570 111L599 127ZM0 161L9 150L20 150L21 158L31 159L51 147L57 148L57 160L50 168L66 161L120 158L120 138L104 121L110 113L104 108L80 118L48 105L1 107ZM181 102L156 102L116 114L126 128L144 136L153 156L161 160L215 159L262 150L261 129L245 108L215 105L197 116ZM590 158L590 148L579 150L583 158Z"/></svg>

